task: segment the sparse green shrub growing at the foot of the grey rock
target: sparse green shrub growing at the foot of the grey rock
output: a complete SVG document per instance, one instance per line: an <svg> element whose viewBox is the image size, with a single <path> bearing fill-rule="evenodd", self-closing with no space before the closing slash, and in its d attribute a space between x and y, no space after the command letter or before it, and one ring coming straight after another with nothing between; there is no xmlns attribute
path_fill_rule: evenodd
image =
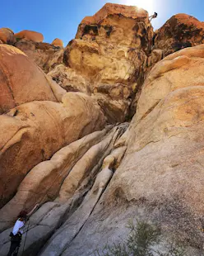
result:
<svg viewBox="0 0 204 256"><path fill-rule="evenodd" d="M106 245L102 253L97 250L95 256L184 256L185 249L174 242L165 248L165 253L155 249L160 244L161 233L158 225L138 221L137 225L130 221L127 225L127 239L112 246ZM158 246L157 246L158 247Z"/></svg>

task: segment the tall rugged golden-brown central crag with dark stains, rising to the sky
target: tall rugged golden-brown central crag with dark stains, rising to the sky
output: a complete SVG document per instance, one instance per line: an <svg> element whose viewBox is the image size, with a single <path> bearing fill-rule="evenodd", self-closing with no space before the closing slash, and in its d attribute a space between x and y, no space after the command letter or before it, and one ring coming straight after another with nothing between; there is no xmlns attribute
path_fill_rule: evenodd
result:
<svg viewBox="0 0 204 256"><path fill-rule="evenodd" d="M146 11L107 3L81 21L64 64L49 76L67 91L92 93L110 123L124 121L143 82L152 37Z"/></svg>

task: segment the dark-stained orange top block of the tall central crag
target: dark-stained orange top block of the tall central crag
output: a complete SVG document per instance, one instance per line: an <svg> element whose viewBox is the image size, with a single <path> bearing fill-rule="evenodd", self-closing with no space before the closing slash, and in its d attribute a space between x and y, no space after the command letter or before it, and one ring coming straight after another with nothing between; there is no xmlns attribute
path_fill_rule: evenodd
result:
<svg viewBox="0 0 204 256"><path fill-rule="evenodd" d="M152 37L148 12L114 3L106 3L93 17L84 18L76 34L76 39L95 40L100 45L126 45L146 52L151 50Z"/></svg>

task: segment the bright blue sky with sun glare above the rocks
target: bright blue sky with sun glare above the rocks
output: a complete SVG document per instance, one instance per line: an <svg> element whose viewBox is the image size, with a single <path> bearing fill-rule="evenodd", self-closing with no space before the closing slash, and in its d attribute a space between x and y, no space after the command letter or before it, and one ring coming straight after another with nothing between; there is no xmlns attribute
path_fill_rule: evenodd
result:
<svg viewBox="0 0 204 256"><path fill-rule="evenodd" d="M181 12L204 21L204 0L2 0L0 27L9 27L14 32L39 31L45 42L51 43L58 37L67 45L75 37L81 20L95 14L106 2L136 5L150 13L158 12L158 18L152 22L155 29Z"/></svg>

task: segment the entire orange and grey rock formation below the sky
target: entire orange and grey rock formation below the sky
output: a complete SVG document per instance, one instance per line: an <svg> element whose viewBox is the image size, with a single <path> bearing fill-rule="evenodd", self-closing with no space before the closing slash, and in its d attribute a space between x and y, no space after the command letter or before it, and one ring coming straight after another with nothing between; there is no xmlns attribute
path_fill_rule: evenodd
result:
<svg viewBox="0 0 204 256"><path fill-rule="evenodd" d="M135 217L160 224L152 250L202 255L202 26L178 14L154 34L108 3L64 49L0 30L0 255L36 203L20 256L94 256Z"/></svg>

